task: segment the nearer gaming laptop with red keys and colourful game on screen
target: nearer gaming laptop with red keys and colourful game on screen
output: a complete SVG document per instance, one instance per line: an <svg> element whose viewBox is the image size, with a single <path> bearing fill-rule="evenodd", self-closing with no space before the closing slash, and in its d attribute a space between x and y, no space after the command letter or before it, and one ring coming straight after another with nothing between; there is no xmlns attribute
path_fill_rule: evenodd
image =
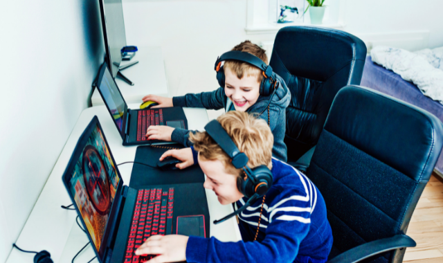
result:
<svg viewBox="0 0 443 263"><path fill-rule="evenodd" d="M151 235L209 235L202 183L140 190L123 185L97 116L80 136L62 179L99 262L150 260L153 255L134 251Z"/></svg>

